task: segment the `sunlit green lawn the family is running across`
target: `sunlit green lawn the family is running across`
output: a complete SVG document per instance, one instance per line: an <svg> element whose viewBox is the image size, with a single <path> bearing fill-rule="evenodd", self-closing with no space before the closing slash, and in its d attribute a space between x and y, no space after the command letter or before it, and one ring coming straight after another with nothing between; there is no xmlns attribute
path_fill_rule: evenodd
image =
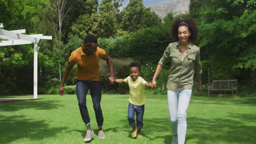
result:
<svg viewBox="0 0 256 144"><path fill-rule="evenodd" d="M38 98L42 99L0 103L0 143L84 143L85 126L75 95L38 95ZM103 95L106 139L102 140L97 136L94 110L88 97L91 126L95 129L89 143L171 143L166 95L147 97L142 139L130 137L131 128L126 119L128 98L129 95ZM256 97L192 97L187 143L256 143L255 112Z"/></svg>

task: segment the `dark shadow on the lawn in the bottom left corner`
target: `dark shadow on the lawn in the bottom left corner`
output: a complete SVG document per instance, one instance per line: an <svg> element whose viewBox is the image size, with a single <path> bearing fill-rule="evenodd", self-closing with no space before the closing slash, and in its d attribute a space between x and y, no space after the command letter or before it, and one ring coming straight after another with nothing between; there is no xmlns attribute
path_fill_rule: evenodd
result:
<svg viewBox="0 0 256 144"><path fill-rule="evenodd" d="M0 142L10 143L19 139L43 140L54 137L66 127L50 128L45 121L34 121L25 116L0 116Z"/></svg>

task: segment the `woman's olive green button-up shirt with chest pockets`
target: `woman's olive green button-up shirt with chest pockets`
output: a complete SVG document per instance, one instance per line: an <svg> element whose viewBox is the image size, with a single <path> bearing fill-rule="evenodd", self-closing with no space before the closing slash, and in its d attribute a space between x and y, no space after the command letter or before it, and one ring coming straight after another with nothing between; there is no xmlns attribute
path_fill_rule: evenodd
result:
<svg viewBox="0 0 256 144"><path fill-rule="evenodd" d="M179 41L171 43L158 62L163 66L166 62L171 61L170 74L166 85L170 91L177 92L192 89L194 73L202 73L199 47L190 43L186 52L187 56L182 61Z"/></svg>

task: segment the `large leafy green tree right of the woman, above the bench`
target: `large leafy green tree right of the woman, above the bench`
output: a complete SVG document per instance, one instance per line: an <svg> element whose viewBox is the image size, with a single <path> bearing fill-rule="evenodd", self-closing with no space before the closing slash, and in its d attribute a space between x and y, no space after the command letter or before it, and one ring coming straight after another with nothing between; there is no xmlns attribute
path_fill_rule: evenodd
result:
<svg viewBox="0 0 256 144"><path fill-rule="evenodd" d="M202 3L208 4L201 5ZM222 69L232 72L238 68L251 70L256 68L255 6L256 2L253 0L191 1L190 15L199 22L199 46L202 49L203 59L211 59L215 62L225 62L226 58L234 59L229 61L229 68ZM222 70L212 65L211 69L222 73Z"/></svg>

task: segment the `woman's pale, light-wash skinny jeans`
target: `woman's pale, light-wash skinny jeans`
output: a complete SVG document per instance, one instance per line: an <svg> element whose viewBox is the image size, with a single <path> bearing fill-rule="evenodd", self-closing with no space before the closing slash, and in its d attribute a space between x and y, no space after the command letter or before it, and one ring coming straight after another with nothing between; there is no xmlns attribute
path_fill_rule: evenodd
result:
<svg viewBox="0 0 256 144"><path fill-rule="evenodd" d="M167 91L170 125L173 135L178 135L178 143L185 143L187 132L187 110L191 98L192 89L184 89L180 92Z"/></svg>

